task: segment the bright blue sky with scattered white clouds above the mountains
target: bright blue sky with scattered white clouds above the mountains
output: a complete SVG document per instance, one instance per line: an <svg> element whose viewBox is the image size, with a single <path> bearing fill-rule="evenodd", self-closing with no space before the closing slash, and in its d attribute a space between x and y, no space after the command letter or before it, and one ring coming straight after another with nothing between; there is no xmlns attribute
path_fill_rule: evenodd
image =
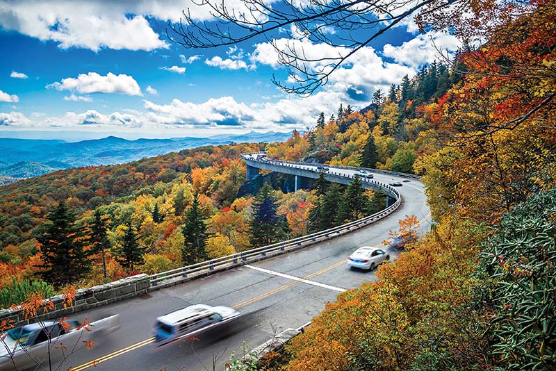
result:
<svg viewBox="0 0 556 371"><path fill-rule="evenodd" d="M412 21L402 22L327 85L298 97L272 84L273 75L287 81L288 70L268 40L202 50L171 42L168 22L179 22L188 8L213 24L191 0L0 0L0 130L60 139L70 132L170 138L306 130L321 111L328 117L340 104L364 108L375 90L387 92L438 60L438 49L460 45L452 35L418 34ZM273 37L308 55L345 52L297 35L295 26Z"/></svg>

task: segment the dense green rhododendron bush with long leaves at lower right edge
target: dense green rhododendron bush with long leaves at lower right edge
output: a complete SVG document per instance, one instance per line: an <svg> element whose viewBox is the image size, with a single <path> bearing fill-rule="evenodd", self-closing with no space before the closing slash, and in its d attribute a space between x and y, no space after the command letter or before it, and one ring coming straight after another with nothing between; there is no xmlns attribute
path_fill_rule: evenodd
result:
<svg viewBox="0 0 556 371"><path fill-rule="evenodd" d="M555 215L556 189L530 197L502 217L480 254L479 273L493 279L482 286L494 312L492 354L506 369L556 367Z"/></svg>

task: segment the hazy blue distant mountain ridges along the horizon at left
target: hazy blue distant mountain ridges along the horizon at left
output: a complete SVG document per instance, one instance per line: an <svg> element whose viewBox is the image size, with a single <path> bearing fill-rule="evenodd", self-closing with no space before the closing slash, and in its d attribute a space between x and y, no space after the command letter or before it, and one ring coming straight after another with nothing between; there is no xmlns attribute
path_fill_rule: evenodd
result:
<svg viewBox="0 0 556 371"><path fill-rule="evenodd" d="M289 133L214 135L208 138L127 140L115 136L66 142L65 140L0 138L0 176L31 178L70 167L115 165L205 145L242 142L284 142Z"/></svg>

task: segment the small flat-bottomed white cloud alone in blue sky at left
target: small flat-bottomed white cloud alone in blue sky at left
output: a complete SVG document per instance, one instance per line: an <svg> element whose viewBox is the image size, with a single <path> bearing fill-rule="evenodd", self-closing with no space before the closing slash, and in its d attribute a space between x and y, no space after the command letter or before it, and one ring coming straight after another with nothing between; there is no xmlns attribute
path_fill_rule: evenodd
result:
<svg viewBox="0 0 556 371"><path fill-rule="evenodd" d="M108 72L106 76L101 76L96 72L79 74L76 79L68 77L63 79L61 83L55 82L47 85L47 88L72 90L81 94L103 92L142 95L141 88L132 76L126 74L115 75L112 72Z"/></svg>

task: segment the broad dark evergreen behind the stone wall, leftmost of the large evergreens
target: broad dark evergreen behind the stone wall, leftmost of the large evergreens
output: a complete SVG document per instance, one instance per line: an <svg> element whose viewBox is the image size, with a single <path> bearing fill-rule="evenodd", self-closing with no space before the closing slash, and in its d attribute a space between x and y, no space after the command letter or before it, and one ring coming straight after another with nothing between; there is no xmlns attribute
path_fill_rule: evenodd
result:
<svg viewBox="0 0 556 371"><path fill-rule="evenodd" d="M48 215L46 229L37 240L42 254L41 271L44 281L55 288L77 281L90 271L90 261L74 226L75 217L64 201Z"/></svg>

